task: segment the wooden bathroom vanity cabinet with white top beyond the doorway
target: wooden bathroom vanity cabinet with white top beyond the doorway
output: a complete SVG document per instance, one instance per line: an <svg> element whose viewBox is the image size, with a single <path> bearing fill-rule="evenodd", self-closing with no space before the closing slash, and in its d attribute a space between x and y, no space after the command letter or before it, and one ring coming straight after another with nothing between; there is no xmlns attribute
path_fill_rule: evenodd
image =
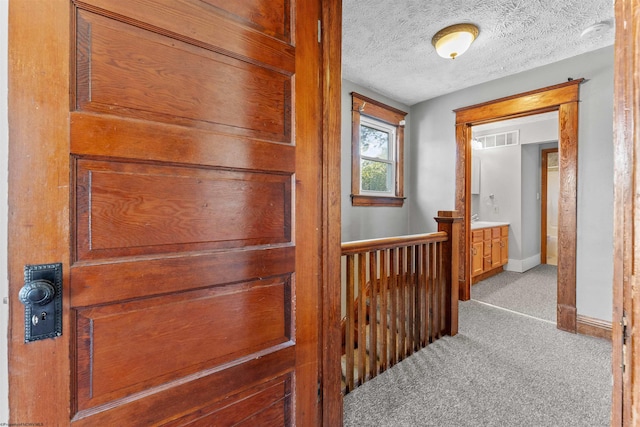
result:
<svg viewBox="0 0 640 427"><path fill-rule="evenodd" d="M500 273L509 261L509 224L471 224L471 283Z"/></svg>

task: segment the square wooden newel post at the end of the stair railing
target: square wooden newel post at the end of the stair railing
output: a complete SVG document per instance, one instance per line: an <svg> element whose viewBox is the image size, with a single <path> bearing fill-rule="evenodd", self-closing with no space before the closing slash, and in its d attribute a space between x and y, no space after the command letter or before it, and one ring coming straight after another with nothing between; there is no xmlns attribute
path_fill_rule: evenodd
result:
<svg viewBox="0 0 640 427"><path fill-rule="evenodd" d="M457 211L438 211L434 218L438 231L444 231L448 239L442 246L443 274L445 277L445 333L454 336L458 333L458 250L460 224L462 217Z"/></svg>

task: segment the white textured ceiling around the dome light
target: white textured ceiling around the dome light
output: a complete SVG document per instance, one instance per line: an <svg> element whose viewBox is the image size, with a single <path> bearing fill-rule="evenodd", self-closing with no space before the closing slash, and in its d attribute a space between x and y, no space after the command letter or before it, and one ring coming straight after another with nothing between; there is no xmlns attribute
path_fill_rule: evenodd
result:
<svg viewBox="0 0 640 427"><path fill-rule="evenodd" d="M461 22L478 38L439 57L431 38ZM413 105L612 45L613 0L343 0L342 37L343 78Z"/></svg>

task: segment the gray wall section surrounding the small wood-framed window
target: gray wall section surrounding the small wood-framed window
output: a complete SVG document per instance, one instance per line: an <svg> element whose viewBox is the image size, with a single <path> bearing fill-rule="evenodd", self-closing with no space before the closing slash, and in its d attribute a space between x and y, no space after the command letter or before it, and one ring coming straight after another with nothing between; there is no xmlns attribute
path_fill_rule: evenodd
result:
<svg viewBox="0 0 640 427"><path fill-rule="evenodd" d="M341 162L341 203L342 203L342 241L377 239L380 237L402 236L409 230L409 208L405 201L403 207L370 207L351 205L351 92L357 92L391 107L409 112L409 107L375 92L365 89L347 80L342 81L342 162ZM405 154L405 196L411 185L408 177L411 165L408 159L411 153L411 115L406 117L404 134ZM433 219L432 219L433 222Z"/></svg>

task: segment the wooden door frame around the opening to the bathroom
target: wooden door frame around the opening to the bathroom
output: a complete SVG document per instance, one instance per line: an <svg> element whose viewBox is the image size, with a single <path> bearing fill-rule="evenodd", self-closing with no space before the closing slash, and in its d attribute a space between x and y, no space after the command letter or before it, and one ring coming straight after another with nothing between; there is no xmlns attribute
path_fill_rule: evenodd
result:
<svg viewBox="0 0 640 427"><path fill-rule="evenodd" d="M578 178L578 102L584 79L454 110L456 113L456 210L464 217L460 233L460 299L471 298L471 127L558 111L560 200L558 205L557 326L576 332L576 222Z"/></svg>

